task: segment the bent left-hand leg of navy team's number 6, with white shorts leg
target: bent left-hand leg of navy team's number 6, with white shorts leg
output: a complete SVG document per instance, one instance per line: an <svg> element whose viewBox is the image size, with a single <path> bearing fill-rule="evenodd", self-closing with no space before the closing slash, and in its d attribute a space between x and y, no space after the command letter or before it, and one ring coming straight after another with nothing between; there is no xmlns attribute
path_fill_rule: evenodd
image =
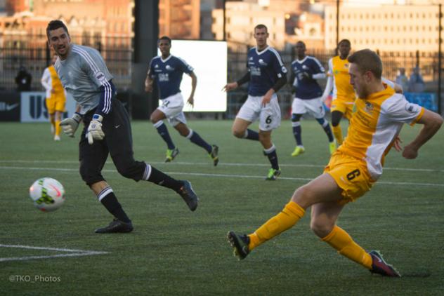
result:
<svg viewBox="0 0 444 296"><path fill-rule="evenodd" d="M249 129L249 125L252 124L259 117L261 111L261 105L259 104L260 97L248 96L247 101L237 112L235 121L231 131L233 135L240 139L259 141L259 133Z"/></svg>

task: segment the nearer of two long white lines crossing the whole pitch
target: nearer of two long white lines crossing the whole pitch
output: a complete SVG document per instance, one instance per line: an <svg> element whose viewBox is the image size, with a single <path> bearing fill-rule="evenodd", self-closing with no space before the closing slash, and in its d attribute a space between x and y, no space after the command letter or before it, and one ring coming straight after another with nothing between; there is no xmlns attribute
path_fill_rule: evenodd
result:
<svg viewBox="0 0 444 296"><path fill-rule="evenodd" d="M208 166L208 163L207 163ZM78 172L78 168L31 168L31 167L15 167L15 166L0 166L0 170L51 170L58 172ZM117 173L117 170L102 170L106 173ZM228 175L228 174L208 174L208 173L189 173L189 172L164 172L168 175L192 175L202 177L236 177L249 179L263 179L263 175ZM305 177L279 177L280 180L294 180L294 181L311 181L312 178ZM378 181L377 184L387 185L411 185L411 186L429 186L429 187L444 187L444 184L436 183L419 183L419 182L384 182Z"/></svg>

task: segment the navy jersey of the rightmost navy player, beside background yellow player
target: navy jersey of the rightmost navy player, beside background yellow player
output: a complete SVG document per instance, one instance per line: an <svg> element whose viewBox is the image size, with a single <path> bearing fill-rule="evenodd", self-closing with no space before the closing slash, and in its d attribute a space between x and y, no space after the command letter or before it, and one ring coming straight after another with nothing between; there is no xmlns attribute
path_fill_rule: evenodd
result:
<svg viewBox="0 0 444 296"><path fill-rule="evenodd" d="M318 59L307 55L303 60L294 60L292 74L295 77L292 82L296 86L297 98L311 100L322 96L322 89L316 79L325 78L325 69Z"/></svg>

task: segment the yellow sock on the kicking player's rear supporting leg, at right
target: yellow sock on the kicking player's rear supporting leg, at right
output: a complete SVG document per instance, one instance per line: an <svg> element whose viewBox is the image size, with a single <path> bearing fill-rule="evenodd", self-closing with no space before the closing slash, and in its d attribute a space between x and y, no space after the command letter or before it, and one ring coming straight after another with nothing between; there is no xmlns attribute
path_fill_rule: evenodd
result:
<svg viewBox="0 0 444 296"><path fill-rule="evenodd" d="M335 226L329 235L322 238L322 241L338 250L339 254L363 265L367 269L372 269L372 257L360 245L355 243L344 229Z"/></svg>

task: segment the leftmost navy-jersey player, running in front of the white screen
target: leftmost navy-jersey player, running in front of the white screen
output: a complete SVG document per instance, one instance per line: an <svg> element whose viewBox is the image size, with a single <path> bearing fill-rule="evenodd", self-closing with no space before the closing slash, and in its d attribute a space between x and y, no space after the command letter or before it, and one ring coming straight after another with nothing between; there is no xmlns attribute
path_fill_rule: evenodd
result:
<svg viewBox="0 0 444 296"><path fill-rule="evenodd" d="M157 129L157 133L159 133L166 142L165 162L173 161L179 153L163 122L163 119L168 119L171 126L174 126L183 137L186 137L191 142L205 149L213 160L214 166L217 166L219 161L218 147L208 144L198 133L188 128L185 114L182 112L183 97L180 89L182 76L183 73L186 73L191 77L192 89L187 102L190 105L194 105L194 93L197 86L197 77L193 72L194 69L188 65L185 60L170 54L171 39L169 39L168 36L162 36L159 41L157 41L157 46L159 46L162 55L152 58L150 62L148 74L145 79L145 90L152 92L154 81L156 81L157 86L159 86L162 106L159 106L152 112L150 120Z"/></svg>

